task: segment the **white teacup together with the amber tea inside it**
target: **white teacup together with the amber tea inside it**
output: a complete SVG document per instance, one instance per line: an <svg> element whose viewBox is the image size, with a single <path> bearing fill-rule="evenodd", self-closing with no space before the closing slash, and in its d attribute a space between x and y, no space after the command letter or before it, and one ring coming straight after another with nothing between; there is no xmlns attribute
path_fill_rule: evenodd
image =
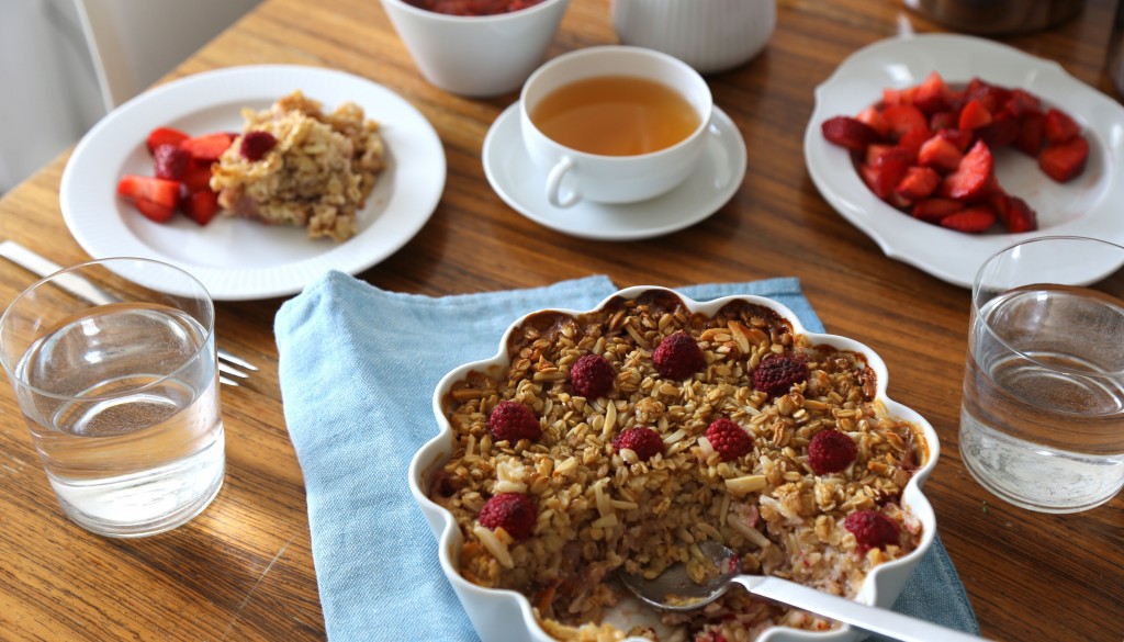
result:
<svg viewBox="0 0 1124 642"><path fill-rule="evenodd" d="M523 87L523 142L544 172L547 200L570 207L655 198L677 187L706 148L714 102L689 65L640 47L559 56Z"/></svg>

